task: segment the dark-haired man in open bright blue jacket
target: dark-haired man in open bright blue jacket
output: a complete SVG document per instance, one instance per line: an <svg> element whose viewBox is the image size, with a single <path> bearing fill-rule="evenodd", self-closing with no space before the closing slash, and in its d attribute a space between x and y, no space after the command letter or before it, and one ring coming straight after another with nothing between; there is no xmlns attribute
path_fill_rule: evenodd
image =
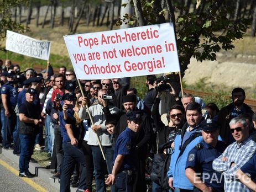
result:
<svg viewBox="0 0 256 192"><path fill-rule="evenodd" d="M186 160L189 152L202 141L201 127L205 124L201 105L189 103L186 106L187 122L174 140L174 150L168 171L169 186L175 191L193 191L194 186L185 175Z"/></svg>

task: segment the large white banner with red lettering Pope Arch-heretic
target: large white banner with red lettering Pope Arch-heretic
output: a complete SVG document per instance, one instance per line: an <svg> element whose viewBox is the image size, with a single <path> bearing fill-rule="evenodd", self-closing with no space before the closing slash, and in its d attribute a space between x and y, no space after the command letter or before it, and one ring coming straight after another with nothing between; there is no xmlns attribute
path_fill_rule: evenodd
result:
<svg viewBox="0 0 256 192"><path fill-rule="evenodd" d="M180 71L173 23L66 35L64 40L79 79Z"/></svg>

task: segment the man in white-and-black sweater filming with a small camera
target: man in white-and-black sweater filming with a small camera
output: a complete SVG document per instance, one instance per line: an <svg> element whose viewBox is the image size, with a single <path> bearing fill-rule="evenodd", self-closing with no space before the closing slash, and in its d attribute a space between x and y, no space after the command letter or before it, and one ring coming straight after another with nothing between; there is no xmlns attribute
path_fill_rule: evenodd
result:
<svg viewBox="0 0 256 192"><path fill-rule="evenodd" d="M98 104L92 105L90 106L90 108L88 108L94 122L94 125L91 126L92 131L89 131L88 145L91 145L92 148L93 164L95 168L96 190L99 192L106 191L105 172L103 170L105 169L107 163L108 173L112 173L113 161L113 150L111 150L113 141L111 135L106 129L105 113L107 111L110 111L111 114L114 114L119 111L119 109L115 106L108 106L108 100L105 100L103 98L108 98L106 89L100 89L98 91ZM83 98L82 108L79 111L79 118L81 119L89 119L86 105L87 98ZM100 146L95 134L100 137L102 149L106 157L106 163L101 154Z"/></svg>

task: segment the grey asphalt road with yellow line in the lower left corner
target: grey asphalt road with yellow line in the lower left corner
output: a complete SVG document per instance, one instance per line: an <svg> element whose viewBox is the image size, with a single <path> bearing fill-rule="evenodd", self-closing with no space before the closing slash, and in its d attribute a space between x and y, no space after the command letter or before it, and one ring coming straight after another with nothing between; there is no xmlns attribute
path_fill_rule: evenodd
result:
<svg viewBox="0 0 256 192"><path fill-rule="evenodd" d="M0 154L0 192L8 191L58 191L38 177L18 177L18 162ZM30 170L33 173L33 170Z"/></svg>

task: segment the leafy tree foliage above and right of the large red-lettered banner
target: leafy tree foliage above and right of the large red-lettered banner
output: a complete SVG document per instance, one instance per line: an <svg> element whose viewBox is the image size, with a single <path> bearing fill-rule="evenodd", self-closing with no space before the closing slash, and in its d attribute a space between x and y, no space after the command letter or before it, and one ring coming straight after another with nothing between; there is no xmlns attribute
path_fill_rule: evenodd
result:
<svg viewBox="0 0 256 192"><path fill-rule="evenodd" d="M234 10L238 9L233 6L239 2L238 0L197 0L193 2L194 10L187 10L186 6L190 7L191 2L187 4L185 1L166 0L166 10L161 7L160 0L134 0L136 15L131 17L126 15L119 19L117 24L123 22L135 24L137 20L140 26L145 25L144 23L159 24L163 23L163 17L159 17L159 14L169 12L168 21L174 22L181 74L184 76L191 57L201 62L216 60L216 52L233 49L233 41L243 37L249 21L237 17L237 14L236 20L234 19ZM229 15L232 17L228 18ZM142 22L143 20L145 22ZM164 19L164 23L168 21Z"/></svg>

